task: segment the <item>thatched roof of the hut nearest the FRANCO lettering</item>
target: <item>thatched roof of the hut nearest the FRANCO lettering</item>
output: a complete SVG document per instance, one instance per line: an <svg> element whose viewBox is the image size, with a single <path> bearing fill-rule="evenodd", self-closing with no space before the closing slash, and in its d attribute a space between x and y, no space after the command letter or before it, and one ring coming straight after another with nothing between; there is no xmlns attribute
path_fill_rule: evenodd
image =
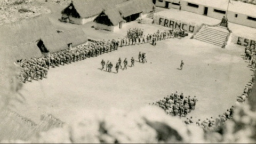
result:
<svg viewBox="0 0 256 144"><path fill-rule="evenodd" d="M123 21L125 17L137 13L148 13L153 11L153 2L151 0L130 0L115 5L114 8L103 11L94 22L102 23L108 26L116 26ZM106 20L107 17L107 20Z"/></svg>

